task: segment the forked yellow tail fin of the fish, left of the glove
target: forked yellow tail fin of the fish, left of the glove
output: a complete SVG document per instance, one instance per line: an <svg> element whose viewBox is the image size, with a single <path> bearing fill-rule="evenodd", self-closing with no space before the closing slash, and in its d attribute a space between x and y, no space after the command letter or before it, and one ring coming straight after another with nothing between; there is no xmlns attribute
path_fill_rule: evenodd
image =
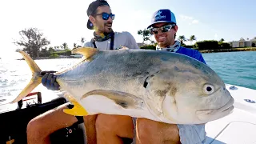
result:
<svg viewBox="0 0 256 144"><path fill-rule="evenodd" d="M22 90L22 92L20 94L18 94L18 97L15 98L12 102L10 103L14 103L14 102L18 102L20 101L22 98L25 98L27 94L30 94L30 92L32 90L34 90L34 88L36 86L38 86L41 83L42 77L41 77L41 69L38 67L38 65L34 62L34 60L32 58L30 58L30 56L28 54L26 54L24 51L22 50L17 50L17 52L19 52L20 54L22 54L23 58L25 58L26 63L30 66L30 70L32 72L32 78L30 79L30 82L26 85L26 87Z"/></svg>

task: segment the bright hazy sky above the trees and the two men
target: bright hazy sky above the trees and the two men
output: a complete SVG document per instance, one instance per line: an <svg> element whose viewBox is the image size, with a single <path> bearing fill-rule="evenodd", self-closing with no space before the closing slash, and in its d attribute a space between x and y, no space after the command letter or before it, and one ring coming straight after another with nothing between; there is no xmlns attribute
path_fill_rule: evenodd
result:
<svg viewBox="0 0 256 144"><path fill-rule="evenodd" d="M93 0L8 0L0 2L0 57L18 48L12 42L20 30L36 27L50 40L51 46L66 42L72 49L81 38L90 41L86 10ZM225 42L256 37L256 1L253 0L107 0L115 14L114 31L129 31L142 42L138 30L150 25L152 14L170 9L178 24L177 35L197 41ZM154 38L152 37L152 40ZM190 42L186 42L190 44Z"/></svg>

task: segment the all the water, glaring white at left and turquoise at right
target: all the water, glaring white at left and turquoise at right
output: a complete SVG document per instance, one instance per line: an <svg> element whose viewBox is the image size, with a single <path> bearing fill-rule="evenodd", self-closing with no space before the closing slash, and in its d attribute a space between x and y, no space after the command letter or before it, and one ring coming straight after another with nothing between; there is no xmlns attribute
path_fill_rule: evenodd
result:
<svg viewBox="0 0 256 144"><path fill-rule="evenodd" d="M202 54L225 83L256 90L256 51ZM79 59L36 60L42 70L61 70ZM30 82L31 72L25 61L0 59L0 99L16 97Z"/></svg>

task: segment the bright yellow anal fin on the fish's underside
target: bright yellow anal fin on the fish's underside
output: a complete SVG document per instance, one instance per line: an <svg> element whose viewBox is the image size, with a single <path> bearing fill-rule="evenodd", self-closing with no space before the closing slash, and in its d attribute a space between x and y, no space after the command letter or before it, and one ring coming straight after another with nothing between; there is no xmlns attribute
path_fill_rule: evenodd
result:
<svg viewBox="0 0 256 144"><path fill-rule="evenodd" d="M67 98L74 105L72 109L64 109L64 113L74 116L88 115L88 112L74 99L74 97L72 97L70 94L65 94L64 97Z"/></svg>

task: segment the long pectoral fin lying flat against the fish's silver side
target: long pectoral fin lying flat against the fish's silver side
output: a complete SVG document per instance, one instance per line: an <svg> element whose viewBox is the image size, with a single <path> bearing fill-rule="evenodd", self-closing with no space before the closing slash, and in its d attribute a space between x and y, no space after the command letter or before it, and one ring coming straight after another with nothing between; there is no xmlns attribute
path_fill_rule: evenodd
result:
<svg viewBox="0 0 256 144"><path fill-rule="evenodd" d="M106 98L113 100L119 106L125 109L140 109L144 104L141 98L134 96L133 94L128 94L121 91L114 90L93 90L82 96L82 98L86 98L90 95L102 95ZM81 98L81 99L82 99Z"/></svg>

